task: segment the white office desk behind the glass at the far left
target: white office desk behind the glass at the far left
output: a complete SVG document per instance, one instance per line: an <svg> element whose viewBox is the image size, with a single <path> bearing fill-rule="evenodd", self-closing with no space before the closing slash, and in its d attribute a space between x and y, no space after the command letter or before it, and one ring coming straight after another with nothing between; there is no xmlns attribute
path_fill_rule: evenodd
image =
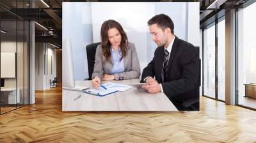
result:
<svg viewBox="0 0 256 143"><path fill-rule="evenodd" d="M20 89L17 88L17 98L16 98L16 88L4 88L1 89L1 100L5 104L16 104L20 103ZM7 102L8 99L8 102ZM6 100L6 101L4 101Z"/></svg>

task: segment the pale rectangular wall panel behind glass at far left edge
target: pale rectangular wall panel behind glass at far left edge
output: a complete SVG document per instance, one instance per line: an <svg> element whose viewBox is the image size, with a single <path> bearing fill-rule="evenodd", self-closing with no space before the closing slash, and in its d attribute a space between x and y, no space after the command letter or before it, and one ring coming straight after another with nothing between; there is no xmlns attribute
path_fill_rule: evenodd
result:
<svg viewBox="0 0 256 143"><path fill-rule="evenodd" d="M15 78L15 65L15 52L1 52L1 78Z"/></svg>

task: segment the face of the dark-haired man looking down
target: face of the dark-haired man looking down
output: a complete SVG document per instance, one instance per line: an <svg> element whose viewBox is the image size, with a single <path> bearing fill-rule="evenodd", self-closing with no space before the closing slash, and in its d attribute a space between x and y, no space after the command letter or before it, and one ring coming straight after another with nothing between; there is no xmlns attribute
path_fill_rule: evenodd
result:
<svg viewBox="0 0 256 143"><path fill-rule="evenodd" d="M152 35L152 41L155 41L158 47L163 46L167 39L167 31L166 29L163 31L157 24L152 24L149 26L150 34Z"/></svg>

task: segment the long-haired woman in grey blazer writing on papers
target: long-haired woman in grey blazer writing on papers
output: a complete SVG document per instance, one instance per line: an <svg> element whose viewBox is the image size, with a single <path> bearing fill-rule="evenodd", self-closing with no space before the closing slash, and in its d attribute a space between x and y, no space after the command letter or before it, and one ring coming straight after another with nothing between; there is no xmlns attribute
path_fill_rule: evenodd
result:
<svg viewBox="0 0 256 143"><path fill-rule="evenodd" d="M101 43L96 50L92 73L93 87L102 80L125 80L140 77L140 61L133 43L128 42L122 26L105 21L100 30Z"/></svg>

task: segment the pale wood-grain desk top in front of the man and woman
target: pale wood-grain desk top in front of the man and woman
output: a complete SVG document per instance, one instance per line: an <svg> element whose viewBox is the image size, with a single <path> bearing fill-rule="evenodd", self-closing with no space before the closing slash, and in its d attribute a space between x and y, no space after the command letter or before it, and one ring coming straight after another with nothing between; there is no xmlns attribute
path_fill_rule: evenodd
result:
<svg viewBox="0 0 256 143"><path fill-rule="evenodd" d="M103 81L119 84L138 83L139 79ZM76 86L92 87L92 80L76 81ZM79 97L79 95L81 96ZM77 98L79 97L79 98ZM77 98L77 100L75 100ZM94 96L79 91L62 90L63 111L177 111L164 93L147 93L132 88L124 92Z"/></svg>

